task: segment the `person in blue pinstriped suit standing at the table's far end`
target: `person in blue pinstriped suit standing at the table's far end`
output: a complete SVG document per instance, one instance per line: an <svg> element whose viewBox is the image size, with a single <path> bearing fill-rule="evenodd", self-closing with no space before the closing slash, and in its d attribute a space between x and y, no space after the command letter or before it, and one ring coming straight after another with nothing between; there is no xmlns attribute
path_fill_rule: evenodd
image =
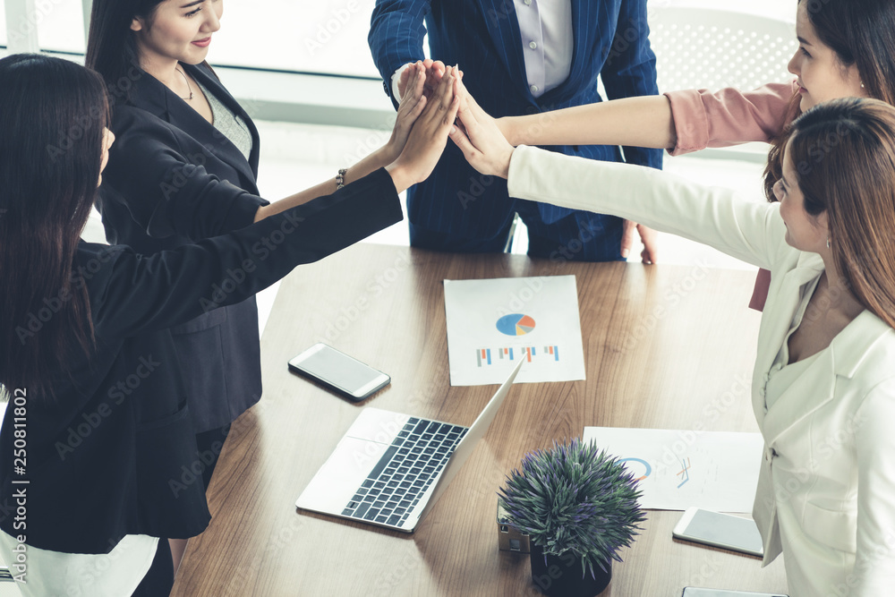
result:
<svg viewBox="0 0 895 597"><path fill-rule="evenodd" d="M427 31L433 77L459 64L466 88L495 117L599 102L598 76L609 98L658 93L646 0L377 0L368 41L396 107L401 75L422 60ZM550 115L542 123L550 126ZM624 158L614 146L545 149L661 168L660 149L626 147ZM503 251L514 213L528 227L532 257L620 260L635 242L636 225L618 217L510 198L506 181L479 175L452 145L429 180L408 191L407 208L411 244L439 251ZM636 229L644 262L655 261L655 233Z"/></svg>

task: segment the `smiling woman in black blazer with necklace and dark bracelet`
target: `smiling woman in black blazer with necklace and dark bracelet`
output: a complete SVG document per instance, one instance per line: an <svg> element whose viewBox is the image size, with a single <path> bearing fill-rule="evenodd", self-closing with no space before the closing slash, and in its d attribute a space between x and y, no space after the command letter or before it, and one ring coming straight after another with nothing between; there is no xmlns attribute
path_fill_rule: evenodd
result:
<svg viewBox="0 0 895 597"><path fill-rule="evenodd" d="M112 149L98 208L110 243L141 252L171 249L334 192L397 158L425 100L399 111L388 144L327 183L268 205L259 197L259 137L251 117L205 62L220 27L221 0L96 0L87 65L114 99ZM417 67L416 96L424 75ZM212 198L197 213L182 204ZM175 221L175 213L183 221ZM261 395L253 296L172 328L200 452L215 455L230 422ZM217 447L218 450L212 449ZM203 463L207 486L215 461ZM175 567L183 542L172 542Z"/></svg>

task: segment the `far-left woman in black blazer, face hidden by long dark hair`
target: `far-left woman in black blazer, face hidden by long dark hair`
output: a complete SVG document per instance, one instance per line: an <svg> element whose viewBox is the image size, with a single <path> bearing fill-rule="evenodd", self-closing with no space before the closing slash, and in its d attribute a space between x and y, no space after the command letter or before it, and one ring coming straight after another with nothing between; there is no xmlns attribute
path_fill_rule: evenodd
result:
<svg viewBox="0 0 895 597"><path fill-rule="evenodd" d="M47 56L0 60L0 556L26 597L131 594L158 537L208 525L203 488L180 482L196 442L170 328L400 221L398 192L429 175L456 115L441 91L388 169L141 255L80 239L115 139L103 81ZM219 211L210 193L166 208L178 235Z"/></svg>

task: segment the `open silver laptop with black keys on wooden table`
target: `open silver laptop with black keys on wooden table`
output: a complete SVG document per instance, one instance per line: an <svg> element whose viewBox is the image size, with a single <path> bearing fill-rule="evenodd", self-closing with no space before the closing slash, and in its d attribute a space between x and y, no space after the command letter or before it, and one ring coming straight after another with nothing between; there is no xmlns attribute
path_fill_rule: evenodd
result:
<svg viewBox="0 0 895 597"><path fill-rule="evenodd" d="M488 431L523 362L472 427L364 408L295 506L413 533Z"/></svg>

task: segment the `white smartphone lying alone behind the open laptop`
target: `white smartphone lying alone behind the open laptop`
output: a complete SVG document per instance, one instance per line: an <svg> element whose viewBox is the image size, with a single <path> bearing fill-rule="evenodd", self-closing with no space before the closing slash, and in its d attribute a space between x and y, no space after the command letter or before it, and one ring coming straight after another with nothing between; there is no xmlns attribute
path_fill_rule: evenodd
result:
<svg viewBox="0 0 895 597"><path fill-rule="evenodd" d="M289 362L289 371L318 381L353 402L370 397L391 381L382 371L323 343L296 356Z"/></svg>

